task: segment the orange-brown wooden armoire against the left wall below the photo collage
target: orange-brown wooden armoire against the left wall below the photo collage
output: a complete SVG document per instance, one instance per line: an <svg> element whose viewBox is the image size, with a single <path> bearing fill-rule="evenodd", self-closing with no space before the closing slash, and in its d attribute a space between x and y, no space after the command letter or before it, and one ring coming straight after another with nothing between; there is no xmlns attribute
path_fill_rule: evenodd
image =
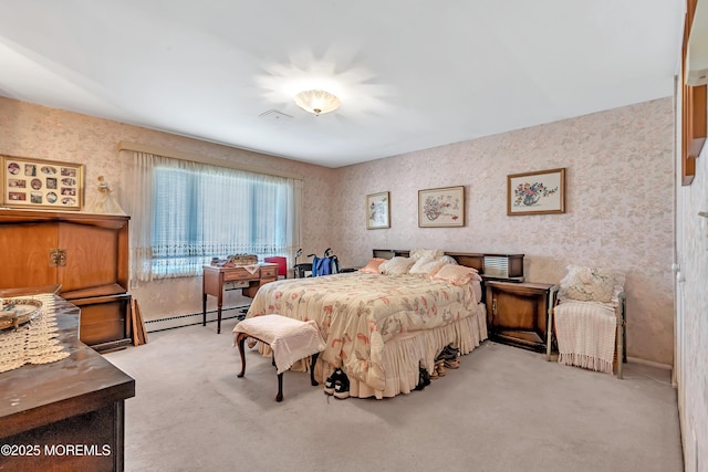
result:
<svg viewBox="0 0 708 472"><path fill-rule="evenodd" d="M95 350L131 342L129 217L0 210L0 290L61 285Z"/></svg>

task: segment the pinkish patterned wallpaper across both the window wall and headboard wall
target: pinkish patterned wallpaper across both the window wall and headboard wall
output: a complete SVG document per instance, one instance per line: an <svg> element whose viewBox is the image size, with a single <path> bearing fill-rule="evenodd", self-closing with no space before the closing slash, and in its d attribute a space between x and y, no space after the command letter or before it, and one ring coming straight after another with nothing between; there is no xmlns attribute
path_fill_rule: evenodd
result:
<svg viewBox="0 0 708 472"><path fill-rule="evenodd" d="M565 265L627 274L628 354L673 359L673 108L658 99L341 169L233 149L107 119L0 98L0 153L84 162L118 189L121 140L178 149L305 177L304 253L327 247L343 265L373 248L524 253L529 281L556 283ZM566 212L506 214L506 176L566 168ZM464 228L418 228L417 190L465 186ZM391 191L392 227L366 230L367 193ZM201 311L199 277L132 290L147 319ZM225 305L244 302L233 293ZM210 298L209 305L212 306Z"/></svg>

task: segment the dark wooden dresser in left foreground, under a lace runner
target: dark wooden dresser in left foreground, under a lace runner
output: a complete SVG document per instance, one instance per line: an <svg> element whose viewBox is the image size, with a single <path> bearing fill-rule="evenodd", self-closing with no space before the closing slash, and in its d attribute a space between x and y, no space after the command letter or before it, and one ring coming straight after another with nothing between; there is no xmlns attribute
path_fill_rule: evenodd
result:
<svg viewBox="0 0 708 472"><path fill-rule="evenodd" d="M0 374L0 444L14 448L0 469L122 471L124 400L135 380L79 340L76 306L58 297L55 307L71 355Z"/></svg>

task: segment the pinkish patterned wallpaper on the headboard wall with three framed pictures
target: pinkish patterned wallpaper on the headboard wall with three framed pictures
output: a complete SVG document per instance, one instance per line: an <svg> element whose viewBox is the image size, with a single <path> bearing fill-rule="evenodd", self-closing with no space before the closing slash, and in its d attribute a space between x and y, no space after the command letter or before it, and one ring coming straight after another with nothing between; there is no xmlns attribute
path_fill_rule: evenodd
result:
<svg viewBox="0 0 708 472"><path fill-rule="evenodd" d="M673 363L674 119L663 98L337 169L335 250L525 254L528 281L568 264L626 274L628 355ZM566 212L507 216L507 175L564 167ZM465 186L464 228L418 228L419 189ZM365 196L391 192L391 228L366 230Z"/></svg>

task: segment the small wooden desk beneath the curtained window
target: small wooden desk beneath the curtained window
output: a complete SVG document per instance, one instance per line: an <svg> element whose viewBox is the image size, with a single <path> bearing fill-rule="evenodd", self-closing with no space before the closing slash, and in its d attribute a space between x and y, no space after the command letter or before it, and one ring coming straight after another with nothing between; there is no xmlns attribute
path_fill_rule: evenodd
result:
<svg viewBox="0 0 708 472"><path fill-rule="evenodd" d="M248 282L243 287L243 295L251 298L261 285L278 280L278 264L262 263L258 271L250 273L243 268L219 268L216 265L204 266L204 280L201 285L201 326L207 325L207 295L217 297L217 334L221 333L221 305L223 303L225 282Z"/></svg>

